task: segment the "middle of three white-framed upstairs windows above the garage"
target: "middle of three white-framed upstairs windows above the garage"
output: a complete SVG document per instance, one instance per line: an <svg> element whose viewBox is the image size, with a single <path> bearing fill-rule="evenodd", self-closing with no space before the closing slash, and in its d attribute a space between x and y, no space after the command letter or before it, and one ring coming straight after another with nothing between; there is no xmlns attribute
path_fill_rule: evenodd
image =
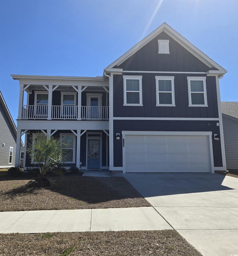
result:
<svg viewBox="0 0 238 256"><path fill-rule="evenodd" d="M174 76L155 76L155 81L156 105L174 107Z"/></svg>

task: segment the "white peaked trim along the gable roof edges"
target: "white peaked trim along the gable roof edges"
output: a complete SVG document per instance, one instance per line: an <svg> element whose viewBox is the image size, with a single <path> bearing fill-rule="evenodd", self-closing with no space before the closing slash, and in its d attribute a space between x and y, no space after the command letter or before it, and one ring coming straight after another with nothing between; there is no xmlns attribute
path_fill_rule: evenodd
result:
<svg viewBox="0 0 238 256"><path fill-rule="evenodd" d="M142 39L138 44L136 44L134 47L132 47L129 51L127 51L125 54L123 54L121 57L119 57L117 60L115 60L112 64L106 67L106 69L110 69L113 67L120 66L124 61L126 61L129 57L131 57L133 54L135 54L137 51L139 51L142 47L144 47L148 42L150 42L152 39L157 37L162 32L165 32L167 35L169 35L171 38L173 38L176 42L178 42L180 45L182 45L186 50L188 50L190 53L192 53L197 59L202 61L206 66L208 66L210 69L217 69L220 70L220 74L225 74L226 70L223 69L220 65L218 65L215 61L210 59L206 54L204 54L202 51L200 51L197 47L195 47L193 44L191 44L187 39L182 37L178 32L176 32L173 28L168 26L166 23L163 23L161 26L159 26L157 29L155 29L153 32L151 32L147 37Z"/></svg>

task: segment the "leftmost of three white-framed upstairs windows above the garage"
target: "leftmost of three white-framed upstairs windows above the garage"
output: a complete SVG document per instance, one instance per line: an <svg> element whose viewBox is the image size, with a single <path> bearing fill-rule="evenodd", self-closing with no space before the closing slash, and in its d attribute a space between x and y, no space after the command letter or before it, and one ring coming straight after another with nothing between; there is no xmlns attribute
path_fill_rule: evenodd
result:
<svg viewBox="0 0 238 256"><path fill-rule="evenodd" d="M123 76L124 106L142 106L142 76Z"/></svg>

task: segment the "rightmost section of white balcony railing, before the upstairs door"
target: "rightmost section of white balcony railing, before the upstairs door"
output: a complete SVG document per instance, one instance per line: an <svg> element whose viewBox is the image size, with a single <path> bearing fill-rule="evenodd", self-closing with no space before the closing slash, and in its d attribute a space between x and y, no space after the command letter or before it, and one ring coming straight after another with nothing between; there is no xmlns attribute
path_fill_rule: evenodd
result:
<svg viewBox="0 0 238 256"><path fill-rule="evenodd" d="M109 119L109 107L92 107L92 106L82 106L81 108L81 118L87 120L106 120Z"/></svg>

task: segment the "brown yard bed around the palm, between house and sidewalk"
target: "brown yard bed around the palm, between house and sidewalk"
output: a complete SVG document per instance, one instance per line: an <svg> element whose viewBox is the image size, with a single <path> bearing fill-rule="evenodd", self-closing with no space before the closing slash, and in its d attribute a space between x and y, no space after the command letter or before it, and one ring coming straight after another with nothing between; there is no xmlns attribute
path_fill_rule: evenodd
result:
<svg viewBox="0 0 238 256"><path fill-rule="evenodd" d="M123 177L48 177L51 187L26 186L29 178L1 178L0 211L151 206Z"/></svg>

